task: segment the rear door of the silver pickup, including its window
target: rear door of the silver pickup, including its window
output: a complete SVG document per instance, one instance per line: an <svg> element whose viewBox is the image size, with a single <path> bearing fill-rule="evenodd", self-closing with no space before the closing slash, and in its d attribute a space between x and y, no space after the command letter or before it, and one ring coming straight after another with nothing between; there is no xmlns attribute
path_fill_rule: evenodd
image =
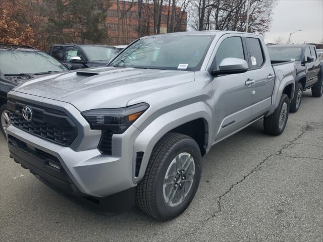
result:
<svg viewBox="0 0 323 242"><path fill-rule="evenodd" d="M270 59L265 58L264 43L257 37L246 37L250 73L253 76L252 108L253 118L263 115L272 105L275 73Z"/></svg>

